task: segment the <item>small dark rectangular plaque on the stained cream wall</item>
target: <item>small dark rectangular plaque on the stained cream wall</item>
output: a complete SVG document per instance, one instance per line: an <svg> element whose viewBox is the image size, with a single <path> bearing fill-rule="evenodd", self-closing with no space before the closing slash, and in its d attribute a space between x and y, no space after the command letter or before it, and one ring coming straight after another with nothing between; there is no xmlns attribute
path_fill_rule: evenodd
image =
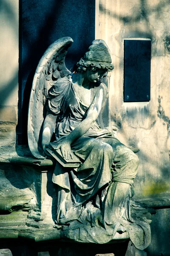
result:
<svg viewBox="0 0 170 256"><path fill-rule="evenodd" d="M124 40L124 102L150 101L150 40Z"/></svg>

